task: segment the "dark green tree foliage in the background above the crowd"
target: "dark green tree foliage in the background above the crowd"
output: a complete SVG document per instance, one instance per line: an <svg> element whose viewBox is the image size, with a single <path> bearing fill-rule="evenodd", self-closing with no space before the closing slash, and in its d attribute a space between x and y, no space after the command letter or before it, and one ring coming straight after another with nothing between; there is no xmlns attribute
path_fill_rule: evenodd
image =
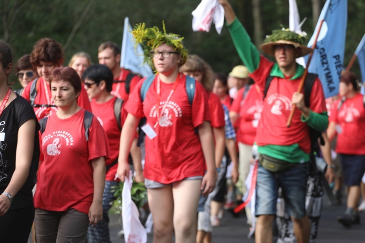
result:
<svg viewBox="0 0 365 243"><path fill-rule="evenodd" d="M322 6L325 0L320 0ZM237 17L254 38L252 0L230 0ZM297 0L301 19L308 17L302 29L312 35L312 5L308 0ZM200 55L217 72L228 73L233 66L241 64L226 27L221 35L193 32L191 12L200 0L2 0L0 3L0 38L15 50L15 61L32 51L34 43L42 37L51 37L64 45L65 65L75 52L85 51L97 62L100 43L111 40L121 45L125 17L134 27L145 22L146 27L162 28L184 36L184 45L190 53ZM289 1L260 1L262 35L280 25L289 26ZM88 9L88 7L90 9ZM347 66L355 48L365 33L364 1L348 0L347 43L344 66ZM254 42L255 43L255 42ZM353 70L359 76L357 62Z"/></svg>

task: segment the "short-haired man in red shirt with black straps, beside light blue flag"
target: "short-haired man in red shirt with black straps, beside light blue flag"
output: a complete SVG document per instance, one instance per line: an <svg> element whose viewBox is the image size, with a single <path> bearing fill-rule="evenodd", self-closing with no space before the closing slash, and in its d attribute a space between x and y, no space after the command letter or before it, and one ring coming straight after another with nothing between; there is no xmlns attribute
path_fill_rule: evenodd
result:
<svg viewBox="0 0 365 243"><path fill-rule="evenodd" d="M120 68L120 57L120 48L114 42L104 42L98 48L99 64L106 65L114 76L111 94L127 101L129 94L132 93L141 77L131 73L128 69Z"/></svg>

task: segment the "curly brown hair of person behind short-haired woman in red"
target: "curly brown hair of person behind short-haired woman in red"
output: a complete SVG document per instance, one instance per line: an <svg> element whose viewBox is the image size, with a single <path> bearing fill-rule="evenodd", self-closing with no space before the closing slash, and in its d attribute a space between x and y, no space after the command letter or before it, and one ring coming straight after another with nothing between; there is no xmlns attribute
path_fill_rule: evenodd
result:
<svg viewBox="0 0 365 243"><path fill-rule="evenodd" d="M39 63L50 62L62 66L64 54L60 43L51 38L42 38L36 42L30 56L30 61L36 69Z"/></svg>

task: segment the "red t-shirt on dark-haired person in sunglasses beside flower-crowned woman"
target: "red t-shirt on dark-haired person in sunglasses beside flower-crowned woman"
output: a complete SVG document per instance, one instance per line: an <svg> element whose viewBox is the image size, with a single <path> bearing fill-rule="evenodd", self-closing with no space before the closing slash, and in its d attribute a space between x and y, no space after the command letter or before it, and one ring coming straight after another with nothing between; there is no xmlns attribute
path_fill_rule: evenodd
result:
<svg viewBox="0 0 365 243"><path fill-rule="evenodd" d="M118 160L119 155L119 143L120 143L120 133L117 121L114 116L114 102L116 97L113 97L109 101L98 104L95 100L91 100L91 108L93 114L96 116L100 124L103 126L105 132L108 136L109 147L110 147L110 159L105 161L105 165L110 165L114 161ZM124 105L126 103L123 102L122 109L120 111L120 125L123 127L124 121L127 117L127 112L124 109ZM118 163L110 167L106 174L107 181L114 181L115 174L117 173Z"/></svg>

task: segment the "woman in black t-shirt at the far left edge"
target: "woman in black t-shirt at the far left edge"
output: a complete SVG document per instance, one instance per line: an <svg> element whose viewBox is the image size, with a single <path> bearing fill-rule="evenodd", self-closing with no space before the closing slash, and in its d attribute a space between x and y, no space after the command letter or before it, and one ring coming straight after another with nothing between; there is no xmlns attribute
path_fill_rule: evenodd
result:
<svg viewBox="0 0 365 243"><path fill-rule="evenodd" d="M34 219L39 125L32 106L9 88L12 66L11 49L0 41L0 242L26 243Z"/></svg>

